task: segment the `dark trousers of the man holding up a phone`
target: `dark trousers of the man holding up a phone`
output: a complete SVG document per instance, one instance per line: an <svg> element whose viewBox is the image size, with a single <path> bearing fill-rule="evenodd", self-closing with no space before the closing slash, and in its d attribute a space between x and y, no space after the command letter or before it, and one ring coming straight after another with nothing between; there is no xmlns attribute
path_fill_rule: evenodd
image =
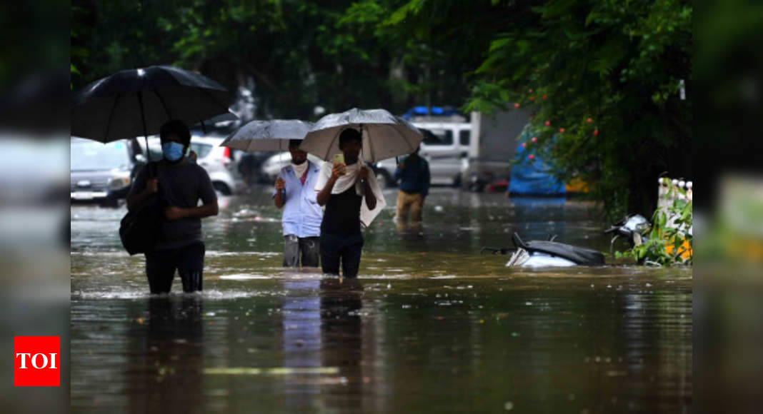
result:
<svg viewBox="0 0 763 414"><path fill-rule="evenodd" d="M339 274L340 261L342 275L345 278L356 278L360 268L360 253L363 247L363 236L320 233L320 265L324 273Z"/></svg>

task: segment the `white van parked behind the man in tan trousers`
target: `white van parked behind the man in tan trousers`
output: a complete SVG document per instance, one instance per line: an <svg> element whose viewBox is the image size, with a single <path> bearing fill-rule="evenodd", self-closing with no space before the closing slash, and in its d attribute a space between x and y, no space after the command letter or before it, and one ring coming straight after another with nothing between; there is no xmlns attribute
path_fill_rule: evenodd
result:
<svg viewBox="0 0 763 414"><path fill-rule="evenodd" d="M467 162L471 124L427 122L414 125L424 134L419 156L429 162L431 183L459 186ZM397 166L394 158L375 164L376 180L382 188L394 185Z"/></svg>

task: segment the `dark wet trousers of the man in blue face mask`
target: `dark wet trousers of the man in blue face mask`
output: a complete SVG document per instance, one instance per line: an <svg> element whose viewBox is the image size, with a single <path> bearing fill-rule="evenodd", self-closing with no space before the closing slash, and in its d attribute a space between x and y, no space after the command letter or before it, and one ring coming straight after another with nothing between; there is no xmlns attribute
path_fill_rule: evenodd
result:
<svg viewBox="0 0 763 414"><path fill-rule="evenodd" d="M146 253L146 276L152 294L166 294L172 288L175 269L180 275L183 291L201 291L204 273L204 242L177 249L158 249Z"/></svg>

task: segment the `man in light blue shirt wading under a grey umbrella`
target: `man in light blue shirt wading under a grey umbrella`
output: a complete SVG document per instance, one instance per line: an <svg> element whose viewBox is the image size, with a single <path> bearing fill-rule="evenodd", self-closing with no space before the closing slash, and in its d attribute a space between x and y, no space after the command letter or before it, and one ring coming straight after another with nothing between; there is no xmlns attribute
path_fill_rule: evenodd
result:
<svg viewBox="0 0 763 414"><path fill-rule="evenodd" d="M320 221L324 210L315 200L313 191L318 178L317 165L307 160L307 152L299 149L301 140L290 140L291 165L278 173L273 201L275 207L284 208L282 218L284 235L284 267L317 268L319 264Z"/></svg>

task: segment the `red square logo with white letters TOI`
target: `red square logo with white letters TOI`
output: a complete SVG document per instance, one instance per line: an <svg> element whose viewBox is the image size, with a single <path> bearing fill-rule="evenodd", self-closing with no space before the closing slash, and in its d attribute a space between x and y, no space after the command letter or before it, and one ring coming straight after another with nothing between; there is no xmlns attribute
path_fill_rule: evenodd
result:
<svg viewBox="0 0 763 414"><path fill-rule="evenodd" d="M61 339L59 336L13 337L13 385L59 387Z"/></svg>

